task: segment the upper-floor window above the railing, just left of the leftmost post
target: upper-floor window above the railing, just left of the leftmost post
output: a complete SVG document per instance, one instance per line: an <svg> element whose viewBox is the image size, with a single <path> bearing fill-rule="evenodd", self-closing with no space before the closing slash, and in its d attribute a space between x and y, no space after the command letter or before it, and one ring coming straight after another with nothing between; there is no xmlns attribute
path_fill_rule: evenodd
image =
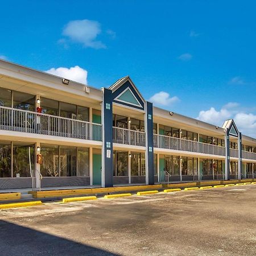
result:
<svg viewBox="0 0 256 256"><path fill-rule="evenodd" d="M35 96L13 91L13 107L16 109L35 111Z"/></svg>

